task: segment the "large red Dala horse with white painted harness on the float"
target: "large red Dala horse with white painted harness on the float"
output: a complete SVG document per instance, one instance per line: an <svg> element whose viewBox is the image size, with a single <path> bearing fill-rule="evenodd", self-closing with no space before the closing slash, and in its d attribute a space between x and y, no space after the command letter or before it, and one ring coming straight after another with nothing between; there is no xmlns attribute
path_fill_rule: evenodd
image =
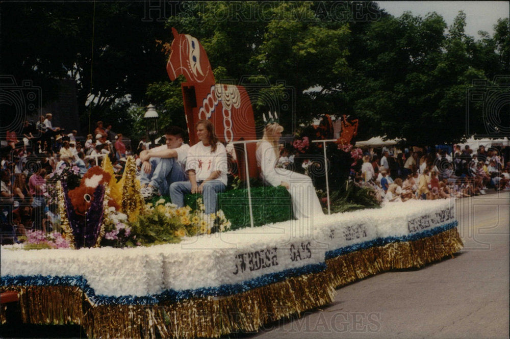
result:
<svg viewBox="0 0 510 339"><path fill-rule="evenodd" d="M243 86L216 84L206 50L195 37L179 34L172 28L173 41L166 70L170 80L184 74L181 84L190 144L198 142L195 124L211 120L222 142L257 139L251 101ZM247 144L248 154L255 154L255 144ZM237 150L239 175L244 178L244 152ZM257 176L257 164L250 160L250 176Z"/></svg>

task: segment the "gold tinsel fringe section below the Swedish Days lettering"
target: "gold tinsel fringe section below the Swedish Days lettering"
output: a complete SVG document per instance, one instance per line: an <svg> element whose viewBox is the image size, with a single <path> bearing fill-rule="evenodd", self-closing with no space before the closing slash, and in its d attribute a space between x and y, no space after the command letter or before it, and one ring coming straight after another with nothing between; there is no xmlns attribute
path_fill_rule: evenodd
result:
<svg viewBox="0 0 510 339"><path fill-rule="evenodd" d="M81 324L88 337L195 338L257 331L263 324L330 303L335 289L324 272L291 277L228 297L155 306L98 305L75 287L30 286L21 291L22 319L33 324Z"/></svg>

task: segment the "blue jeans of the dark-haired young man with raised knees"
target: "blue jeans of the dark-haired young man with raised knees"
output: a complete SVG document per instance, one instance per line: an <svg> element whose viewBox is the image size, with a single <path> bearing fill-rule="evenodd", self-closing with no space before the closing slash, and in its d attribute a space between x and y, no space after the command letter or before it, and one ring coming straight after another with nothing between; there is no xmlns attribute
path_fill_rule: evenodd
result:
<svg viewBox="0 0 510 339"><path fill-rule="evenodd" d="M149 174L141 171L140 184L156 187L162 195L168 195L172 182L186 180L181 164L175 158L151 158Z"/></svg>

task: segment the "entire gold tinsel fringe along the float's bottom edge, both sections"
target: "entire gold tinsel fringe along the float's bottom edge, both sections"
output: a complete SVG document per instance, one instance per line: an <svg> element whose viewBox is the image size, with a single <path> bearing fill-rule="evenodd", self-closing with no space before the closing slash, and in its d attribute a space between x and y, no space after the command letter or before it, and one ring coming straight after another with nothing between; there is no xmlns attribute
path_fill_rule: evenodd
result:
<svg viewBox="0 0 510 339"><path fill-rule="evenodd" d="M257 331L263 324L333 301L335 286L391 269L422 267L463 247L456 228L407 243L391 243L326 260L327 269L228 297L154 306L91 306L70 286L3 286L19 291L23 322L81 324L88 337L195 338ZM3 320L2 315L0 320ZM5 321L5 320L3 320Z"/></svg>

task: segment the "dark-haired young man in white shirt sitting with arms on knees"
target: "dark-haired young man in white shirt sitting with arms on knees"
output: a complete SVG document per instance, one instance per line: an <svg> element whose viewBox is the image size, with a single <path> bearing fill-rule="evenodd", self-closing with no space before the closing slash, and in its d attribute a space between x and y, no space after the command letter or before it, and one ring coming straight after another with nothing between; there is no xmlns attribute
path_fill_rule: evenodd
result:
<svg viewBox="0 0 510 339"><path fill-rule="evenodd" d="M142 162L141 193L150 200L156 195L168 195L172 182L186 180L184 168L190 146L184 143L182 128L170 126L165 131L166 145L140 152Z"/></svg>

